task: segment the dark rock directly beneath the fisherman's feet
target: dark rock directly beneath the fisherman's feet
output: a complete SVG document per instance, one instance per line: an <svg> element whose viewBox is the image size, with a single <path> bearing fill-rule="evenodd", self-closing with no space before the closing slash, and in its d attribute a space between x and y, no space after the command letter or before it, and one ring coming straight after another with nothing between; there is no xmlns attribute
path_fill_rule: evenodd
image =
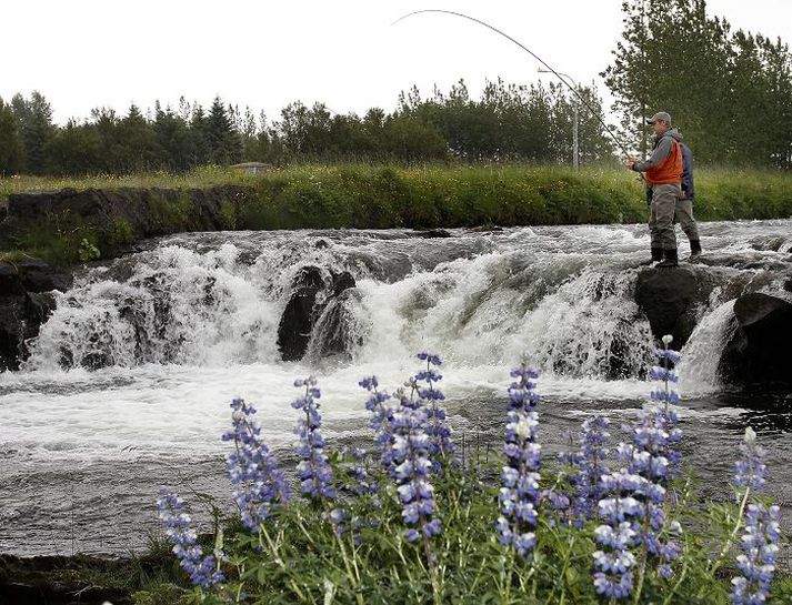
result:
<svg viewBox="0 0 792 605"><path fill-rule="evenodd" d="M693 333L703 305L716 282L704 268L642 269L635 282L635 302L646 315L652 334L673 336L682 347Z"/></svg>

